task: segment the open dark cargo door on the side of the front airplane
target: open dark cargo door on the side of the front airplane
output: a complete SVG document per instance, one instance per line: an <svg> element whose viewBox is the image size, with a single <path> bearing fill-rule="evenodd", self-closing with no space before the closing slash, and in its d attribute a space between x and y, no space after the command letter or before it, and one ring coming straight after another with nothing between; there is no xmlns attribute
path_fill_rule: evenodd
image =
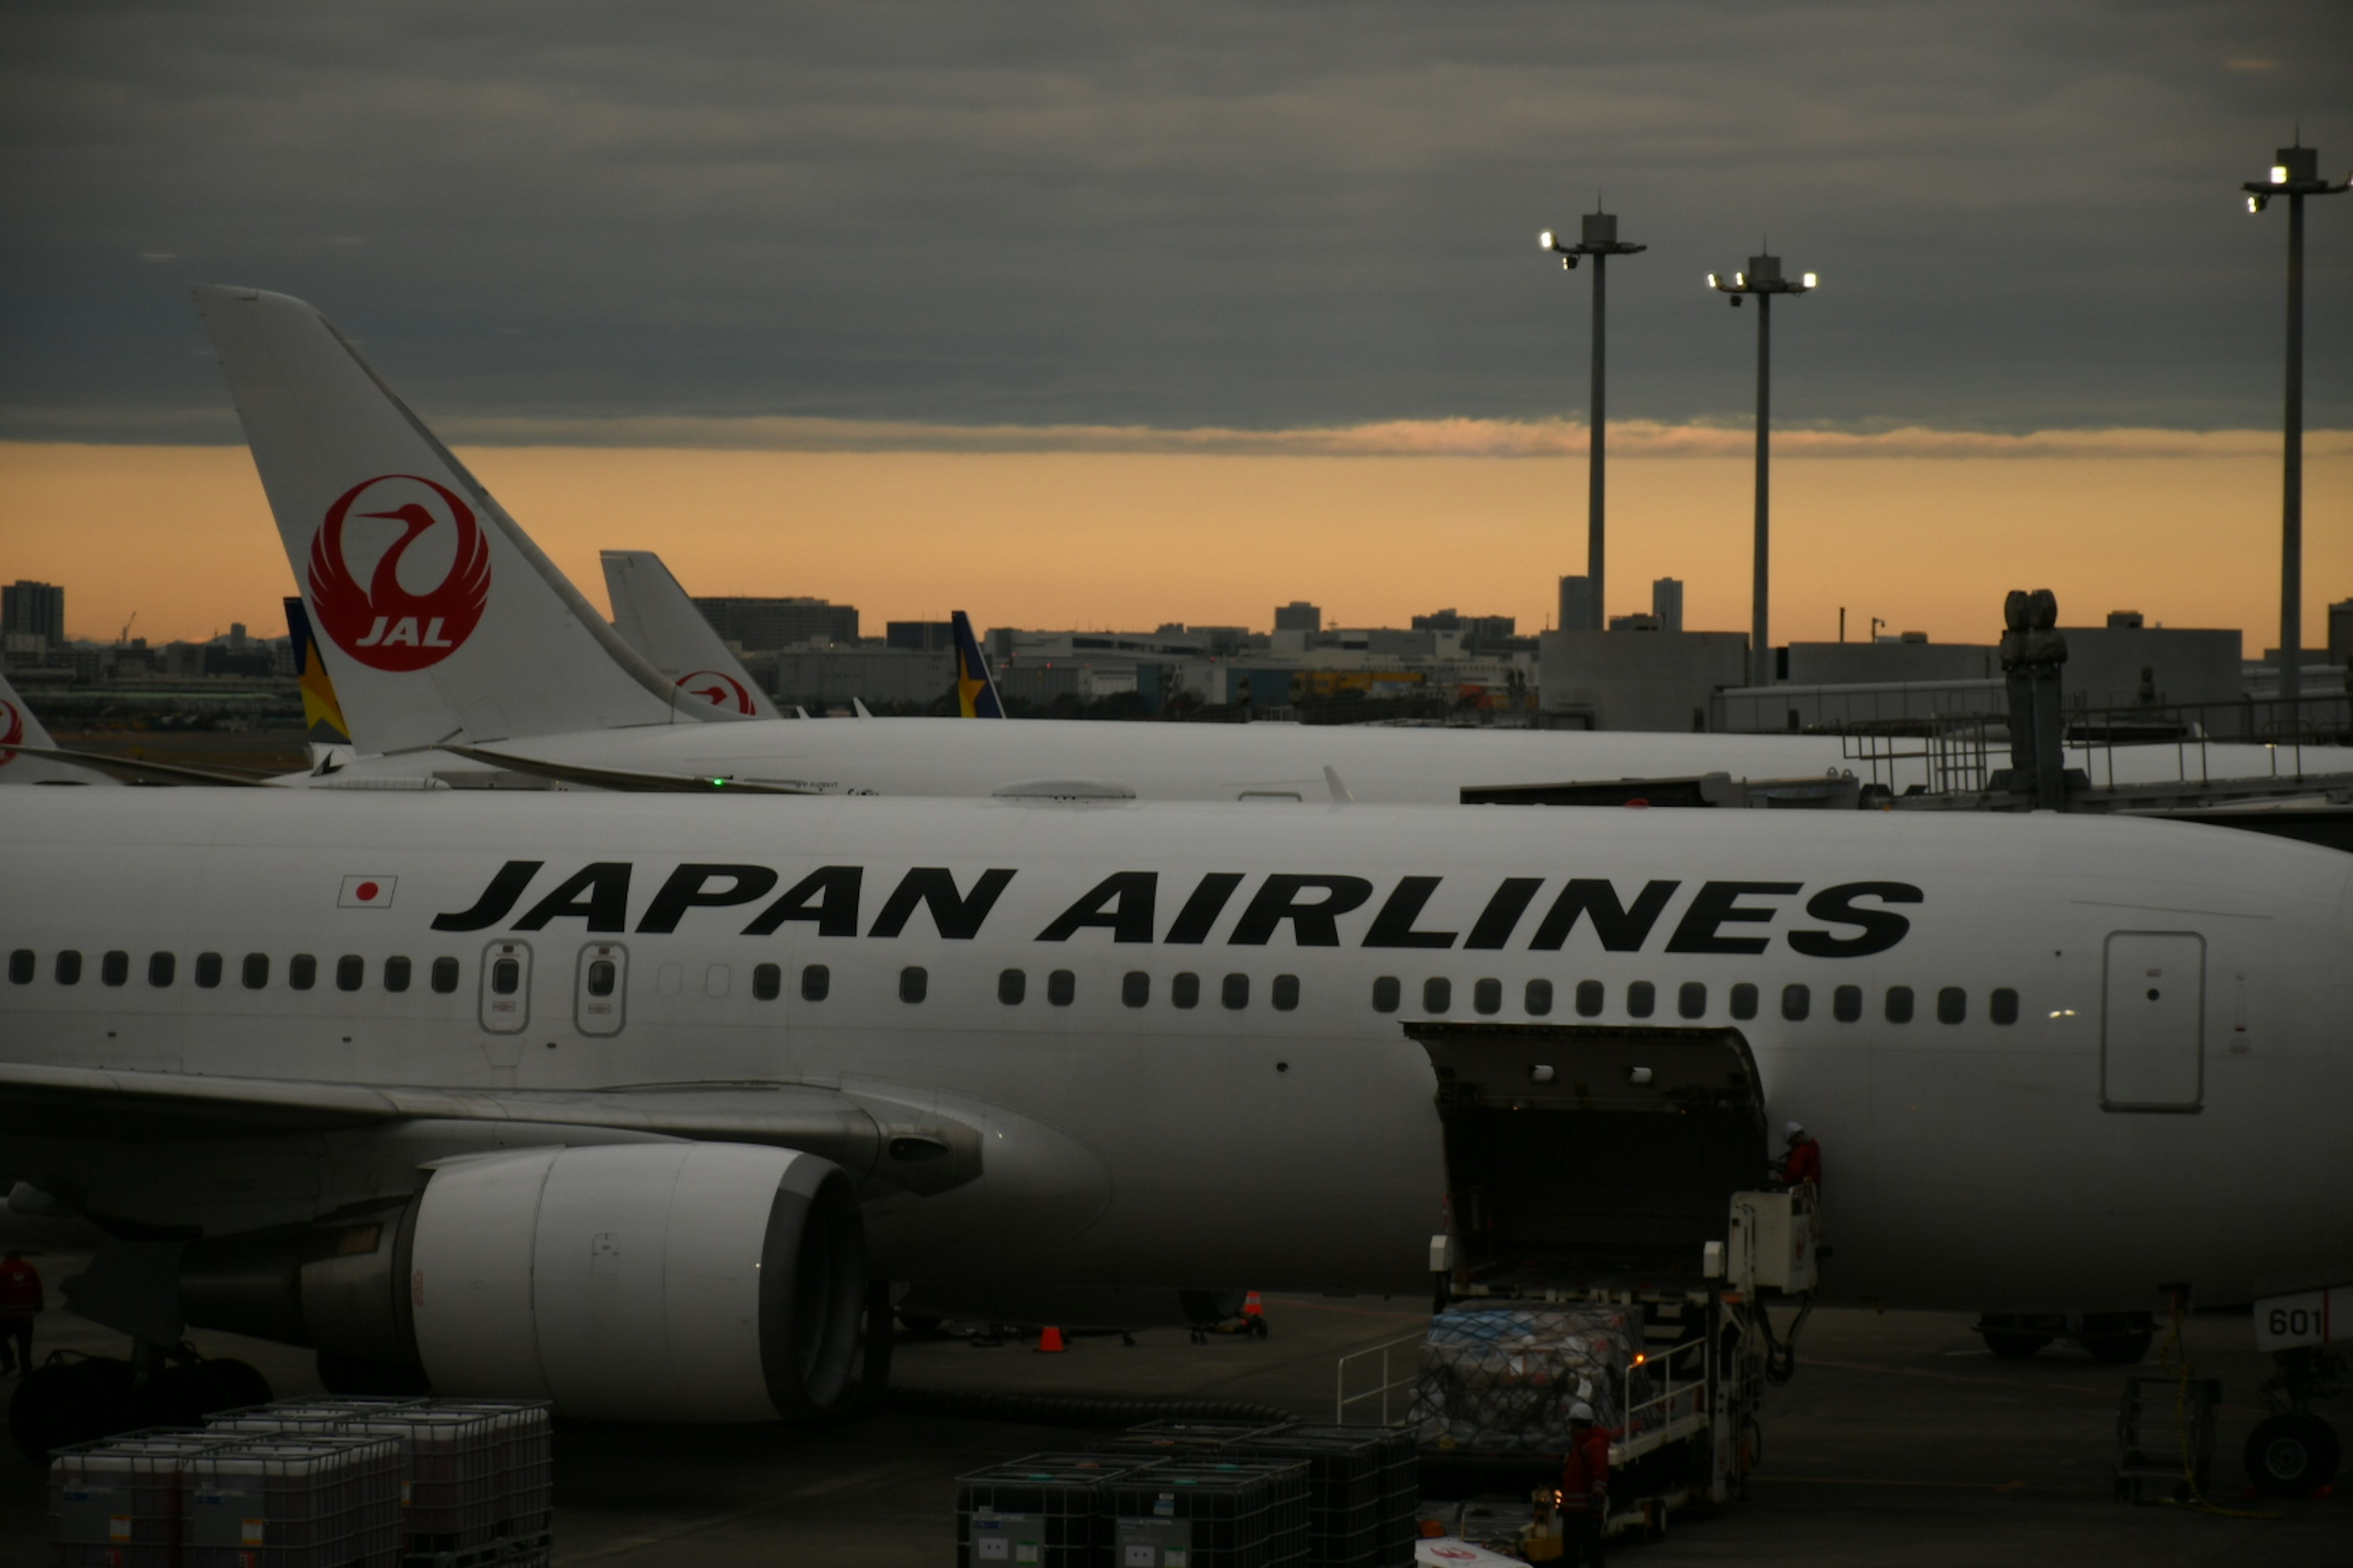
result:
<svg viewBox="0 0 2353 1568"><path fill-rule="evenodd" d="M1407 1023L1438 1070L1459 1262L1489 1288L1699 1276L1765 1175L1739 1030Z"/></svg>

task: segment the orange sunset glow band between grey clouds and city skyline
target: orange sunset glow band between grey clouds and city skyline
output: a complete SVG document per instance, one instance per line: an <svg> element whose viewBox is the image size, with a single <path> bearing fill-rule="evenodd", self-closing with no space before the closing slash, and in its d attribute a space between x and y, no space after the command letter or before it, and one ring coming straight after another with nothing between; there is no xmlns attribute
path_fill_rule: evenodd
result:
<svg viewBox="0 0 2353 1568"><path fill-rule="evenodd" d="M2000 597L2049 585L2068 621L2278 625L2275 437L2186 456L1793 456L1774 465L1774 635L1991 642ZM2306 628L2353 595L2353 442L2311 437ZM1266 628L1457 607L1548 625L1584 569L1581 456L1165 451L715 451L478 447L466 463L602 604L600 548L654 548L689 592L819 595L861 628ZM1609 609L1687 583L1692 628L1746 628L1751 465L1612 463ZM0 578L66 585L71 630L202 639L282 630L292 588L242 447L0 447ZM2311 630L2306 642L2313 642Z"/></svg>

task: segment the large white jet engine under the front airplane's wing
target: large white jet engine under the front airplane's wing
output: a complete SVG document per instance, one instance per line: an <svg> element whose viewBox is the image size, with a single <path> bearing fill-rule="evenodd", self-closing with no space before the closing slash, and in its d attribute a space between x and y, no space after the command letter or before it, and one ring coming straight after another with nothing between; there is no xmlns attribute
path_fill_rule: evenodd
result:
<svg viewBox="0 0 2353 1568"><path fill-rule="evenodd" d="M736 1143L454 1159L398 1211L193 1241L179 1260L188 1324L612 1420L828 1410L864 1298L847 1173Z"/></svg>

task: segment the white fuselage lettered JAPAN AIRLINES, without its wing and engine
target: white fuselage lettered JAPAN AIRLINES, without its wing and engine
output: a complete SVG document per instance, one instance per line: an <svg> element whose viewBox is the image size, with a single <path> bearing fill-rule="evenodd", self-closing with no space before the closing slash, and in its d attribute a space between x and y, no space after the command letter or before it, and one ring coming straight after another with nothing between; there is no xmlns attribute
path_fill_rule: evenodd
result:
<svg viewBox="0 0 2353 1568"><path fill-rule="evenodd" d="M1842 1295L2141 1307L2169 1284L2245 1300L2353 1276L2353 858L2254 835L1974 813L26 790L0 806L0 867L7 1063L934 1103L984 1128L986 1168L873 1206L894 1279L1419 1288L1445 1175L1431 1067L1400 1025L1438 1011L1431 980L1461 1020L1739 1030L1774 1126L1795 1117L1824 1143ZM824 867L856 867L854 910L842 872L812 891ZM953 879L932 882L951 905L972 900L969 933L908 905L922 867ZM1012 875L974 917L991 872ZM1120 872L1125 891L1089 905ZM1311 882L1285 893L1280 877ZM1391 919L1409 877L1435 886ZM1511 896L1511 879L1537 886ZM1572 879L1586 905L1560 929ZM1600 884L1624 919L1595 912ZM1327 898L1346 907L1325 919ZM506 999L494 945L522 959ZM619 950L621 1011L584 1027L591 947ZM80 954L73 985L61 952ZM127 954L120 985L108 952ZM162 985L151 954L174 954ZM216 985L198 983L202 954ZM301 957L308 990L289 985ZM386 990L391 959L407 990ZM824 999L802 997L809 966ZM1026 978L1019 1004L1000 1001L1005 971ZM1181 976L1198 1006L1174 1004ZM1297 1006L1278 1011L1285 978ZM1398 1011L1377 1011L1381 978ZM1529 1011L1532 980L1551 983L1548 1013ZM1581 983L1600 987L1591 1016ZM1784 1016L1793 985L1805 1018ZM1859 1018L1838 1016L1840 987ZM1887 1020L1892 987L1918 999L1908 1023ZM1995 992L2014 992L2014 1023L1993 1020ZM174 1180L125 1190L209 1229L256 1204L296 1218L365 1197L299 1140L285 1159L9 1143L0 1175L85 1190L169 1159Z"/></svg>

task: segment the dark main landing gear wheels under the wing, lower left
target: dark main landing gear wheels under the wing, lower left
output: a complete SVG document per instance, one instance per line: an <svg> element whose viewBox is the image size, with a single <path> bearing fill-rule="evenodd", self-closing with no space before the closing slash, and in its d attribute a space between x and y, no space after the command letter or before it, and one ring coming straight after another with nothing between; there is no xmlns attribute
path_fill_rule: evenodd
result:
<svg viewBox="0 0 2353 1568"><path fill-rule="evenodd" d="M26 1373L7 1406L7 1434L35 1465L56 1448L139 1427L200 1427L207 1415L271 1401L245 1361L207 1361L186 1345L139 1345L136 1361L68 1349Z"/></svg>

